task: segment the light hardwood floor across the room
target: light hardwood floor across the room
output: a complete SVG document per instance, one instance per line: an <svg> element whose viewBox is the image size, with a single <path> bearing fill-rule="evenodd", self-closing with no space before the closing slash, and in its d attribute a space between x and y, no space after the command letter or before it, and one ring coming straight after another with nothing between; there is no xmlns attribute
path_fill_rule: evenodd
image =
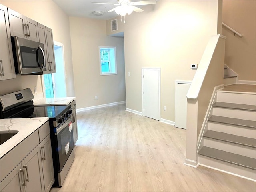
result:
<svg viewBox="0 0 256 192"><path fill-rule="evenodd" d="M186 130L117 105L78 112L75 160L50 192L256 191L256 183L184 165Z"/></svg>

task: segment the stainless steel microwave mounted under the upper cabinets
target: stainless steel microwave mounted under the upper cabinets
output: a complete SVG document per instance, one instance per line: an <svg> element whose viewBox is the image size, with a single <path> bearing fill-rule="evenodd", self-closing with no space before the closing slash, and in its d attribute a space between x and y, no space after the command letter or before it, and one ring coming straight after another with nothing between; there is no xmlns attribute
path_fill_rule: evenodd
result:
<svg viewBox="0 0 256 192"><path fill-rule="evenodd" d="M46 71L44 44L20 37L11 37L16 74Z"/></svg>

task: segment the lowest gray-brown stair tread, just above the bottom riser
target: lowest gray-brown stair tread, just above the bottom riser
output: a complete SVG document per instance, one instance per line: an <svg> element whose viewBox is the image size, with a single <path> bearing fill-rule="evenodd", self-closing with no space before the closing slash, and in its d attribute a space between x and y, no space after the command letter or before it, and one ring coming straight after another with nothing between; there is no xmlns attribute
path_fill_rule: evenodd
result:
<svg viewBox="0 0 256 192"><path fill-rule="evenodd" d="M232 163L238 166L243 166L252 170L256 170L256 159L210 148L210 147L203 147L198 154L207 156L210 158L214 158L217 160L221 160L224 162Z"/></svg>

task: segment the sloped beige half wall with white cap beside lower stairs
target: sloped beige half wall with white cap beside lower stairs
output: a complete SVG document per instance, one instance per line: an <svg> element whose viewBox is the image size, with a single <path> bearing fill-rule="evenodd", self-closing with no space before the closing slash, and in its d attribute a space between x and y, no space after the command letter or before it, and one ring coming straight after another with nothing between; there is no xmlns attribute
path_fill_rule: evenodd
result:
<svg viewBox="0 0 256 192"><path fill-rule="evenodd" d="M198 140L216 86L223 84L225 38L212 36L204 50L187 93L187 138L185 164L198 166Z"/></svg>

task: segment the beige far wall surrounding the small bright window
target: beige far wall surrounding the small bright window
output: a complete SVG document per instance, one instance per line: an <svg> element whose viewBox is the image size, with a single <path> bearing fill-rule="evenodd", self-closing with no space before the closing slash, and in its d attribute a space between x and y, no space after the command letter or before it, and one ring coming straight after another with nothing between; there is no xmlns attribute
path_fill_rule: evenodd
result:
<svg viewBox="0 0 256 192"><path fill-rule="evenodd" d="M77 108L125 101L124 39L106 36L106 21L88 18L70 17L70 34ZM100 76L99 46L116 47L117 75Z"/></svg>

